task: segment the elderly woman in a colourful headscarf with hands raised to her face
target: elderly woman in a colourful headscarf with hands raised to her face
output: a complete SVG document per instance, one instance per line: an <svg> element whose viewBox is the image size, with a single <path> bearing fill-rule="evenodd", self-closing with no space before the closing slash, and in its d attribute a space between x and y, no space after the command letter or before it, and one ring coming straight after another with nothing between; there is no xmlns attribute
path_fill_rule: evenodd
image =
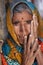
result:
<svg viewBox="0 0 43 65"><path fill-rule="evenodd" d="M8 8L7 29L2 65L43 65L37 36L37 11L31 2L19 1Z"/></svg>

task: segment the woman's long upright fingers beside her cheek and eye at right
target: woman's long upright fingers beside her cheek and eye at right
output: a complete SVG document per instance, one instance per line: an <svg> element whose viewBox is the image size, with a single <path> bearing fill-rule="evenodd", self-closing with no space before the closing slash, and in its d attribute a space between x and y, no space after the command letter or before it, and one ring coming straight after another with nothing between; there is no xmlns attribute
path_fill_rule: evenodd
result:
<svg viewBox="0 0 43 65"><path fill-rule="evenodd" d="M38 20L37 20L37 16L34 14L33 20L31 21L32 44L34 40L37 38L37 28L38 28Z"/></svg>

